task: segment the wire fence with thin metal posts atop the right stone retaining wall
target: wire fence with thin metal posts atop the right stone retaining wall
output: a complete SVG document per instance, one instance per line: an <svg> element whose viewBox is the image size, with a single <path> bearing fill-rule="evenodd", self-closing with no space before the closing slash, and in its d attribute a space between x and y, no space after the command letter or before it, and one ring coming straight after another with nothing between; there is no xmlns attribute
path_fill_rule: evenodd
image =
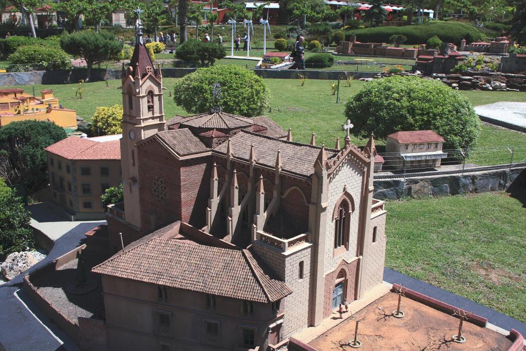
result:
<svg viewBox="0 0 526 351"><path fill-rule="evenodd" d="M439 150L434 145L423 148L402 146L400 152L380 153L381 169L375 178L414 177L434 174L463 174L489 169L526 167L526 146L493 146L472 149ZM378 162L378 161L377 161Z"/></svg>

